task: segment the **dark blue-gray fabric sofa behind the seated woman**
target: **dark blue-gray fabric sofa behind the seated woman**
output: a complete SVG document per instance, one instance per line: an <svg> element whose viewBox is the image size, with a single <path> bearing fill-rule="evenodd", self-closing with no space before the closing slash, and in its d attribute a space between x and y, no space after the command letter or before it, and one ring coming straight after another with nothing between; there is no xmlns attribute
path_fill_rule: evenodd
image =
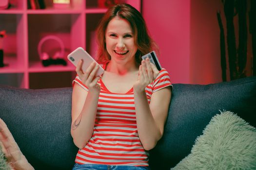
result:
<svg viewBox="0 0 256 170"><path fill-rule="evenodd" d="M70 170L78 148L70 136L72 88L0 85L0 118L36 170ZM174 84L165 131L150 151L152 170L169 170L187 156L219 110L256 127L256 77L211 85Z"/></svg>

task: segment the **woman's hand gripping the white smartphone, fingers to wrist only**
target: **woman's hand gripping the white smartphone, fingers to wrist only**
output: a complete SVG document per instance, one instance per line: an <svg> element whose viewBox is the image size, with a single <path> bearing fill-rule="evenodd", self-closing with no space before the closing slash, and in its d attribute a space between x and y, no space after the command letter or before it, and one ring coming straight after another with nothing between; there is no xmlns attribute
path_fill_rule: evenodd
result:
<svg viewBox="0 0 256 170"><path fill-rule="evenodd" d="M84 85L86 85L90 92L100 91L100 86L98 85L99 76L96 76L99 66L93 62L90 66L83 71L82 70L83 60L80 60L76 68L76 72Z"/></svg>

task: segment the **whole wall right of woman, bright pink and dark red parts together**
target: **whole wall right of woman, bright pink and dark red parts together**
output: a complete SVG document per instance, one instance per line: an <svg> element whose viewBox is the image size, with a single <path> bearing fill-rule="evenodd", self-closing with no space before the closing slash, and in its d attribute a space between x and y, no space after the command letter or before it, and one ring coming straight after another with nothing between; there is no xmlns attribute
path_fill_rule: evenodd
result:
<svg viewBox="0 0 256 170"><path fill-rule="evenodd" d="M161 65L169 71L173 83L205 85L222 82L217 11L221 12L226 38L226 20L221 0L143 1L142 15L159 45ZM234 24L237 46L237 16ZM252 75L251 46L248 30L247 76Z"/></svg>

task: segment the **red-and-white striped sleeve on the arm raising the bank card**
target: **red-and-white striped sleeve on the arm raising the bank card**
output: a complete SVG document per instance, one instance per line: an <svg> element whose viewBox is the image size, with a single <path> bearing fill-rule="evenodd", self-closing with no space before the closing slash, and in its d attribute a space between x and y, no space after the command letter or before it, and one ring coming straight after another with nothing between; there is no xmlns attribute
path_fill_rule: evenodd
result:
<svg viewBox="0 0 256 170"><path fill-rule="evenodd" d="M153 82L153 91L152 93L165 88L167 86L171 86L171 89L173 88L173 85L171 84L170 75L167 72L166 69L160 70L156 80Z"/></svg>

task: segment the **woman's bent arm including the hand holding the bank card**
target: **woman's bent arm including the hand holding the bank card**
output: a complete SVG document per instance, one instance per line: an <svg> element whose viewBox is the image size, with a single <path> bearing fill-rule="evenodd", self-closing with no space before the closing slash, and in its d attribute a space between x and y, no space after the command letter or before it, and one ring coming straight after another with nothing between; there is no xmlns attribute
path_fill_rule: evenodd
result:
<svg viewBox="0 0 256 170"><path fill-rule="evenodd" d="M148 103L145 87L156 79L159 71L148 59L141 62L138 81L134 85L134 101L138 136L145 150L153 149L163 135L171 101L171 88L165 87L151 96Z"/></svg>

